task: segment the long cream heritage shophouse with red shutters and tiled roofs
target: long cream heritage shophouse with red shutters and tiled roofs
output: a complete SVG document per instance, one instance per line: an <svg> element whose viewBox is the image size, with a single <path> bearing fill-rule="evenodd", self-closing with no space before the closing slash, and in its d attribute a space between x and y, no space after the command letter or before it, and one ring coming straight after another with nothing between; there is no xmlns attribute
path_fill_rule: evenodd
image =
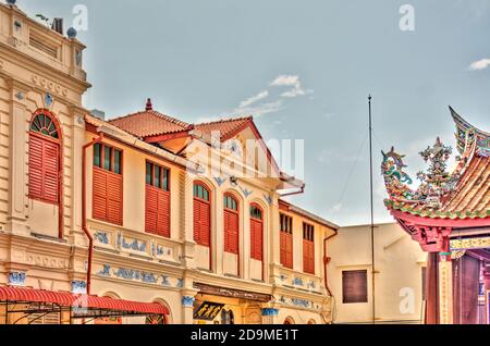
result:
<svg viewBox="0 0 490 346"><path fill-rule="evenodd" d="M84 48L0 5L0 323L329 323L338 226L253 119L93 116ZM275 174L233 175L248 139Z"/></svg>

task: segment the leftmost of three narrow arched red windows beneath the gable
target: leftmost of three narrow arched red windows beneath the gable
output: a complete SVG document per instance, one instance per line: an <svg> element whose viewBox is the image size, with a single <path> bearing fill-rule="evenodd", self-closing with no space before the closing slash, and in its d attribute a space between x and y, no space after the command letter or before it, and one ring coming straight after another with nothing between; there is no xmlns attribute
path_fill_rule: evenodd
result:
<svg viewBox="0 0 490 346"><path fill-rule="evenodd" d="M194 240L209 247L211 238L211 194L201 182L194 183Z"/></svg>

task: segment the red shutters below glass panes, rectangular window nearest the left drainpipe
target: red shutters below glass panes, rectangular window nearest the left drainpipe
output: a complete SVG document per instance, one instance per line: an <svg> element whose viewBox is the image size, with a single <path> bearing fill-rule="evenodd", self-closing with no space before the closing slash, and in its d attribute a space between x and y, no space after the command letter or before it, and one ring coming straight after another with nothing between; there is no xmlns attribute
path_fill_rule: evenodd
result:
<svg viewBox="0 0 490 346"><path fill-rule="evenodd" d="M93 218L122 225L122 175L94 166Z"/></svg>

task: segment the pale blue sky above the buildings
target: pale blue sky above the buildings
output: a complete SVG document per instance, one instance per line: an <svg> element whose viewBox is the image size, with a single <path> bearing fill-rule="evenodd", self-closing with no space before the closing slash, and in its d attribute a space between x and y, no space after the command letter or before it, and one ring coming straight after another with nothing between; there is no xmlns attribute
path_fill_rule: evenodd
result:
<svg viewBox="0 0 490 346"><path fill-rule="evenodd" d="M112 118L151 97L187 122L252 113L266 139L305 139L307 188L291 200L341 225L369 221L369 92L377 222L392 220L381 149L406 153L414 175L437 136L454 145L449 104L490 129L490 0L17 1L66 27L78 3L86 108ZM399 26L406 3L414 32Z"/></svg>

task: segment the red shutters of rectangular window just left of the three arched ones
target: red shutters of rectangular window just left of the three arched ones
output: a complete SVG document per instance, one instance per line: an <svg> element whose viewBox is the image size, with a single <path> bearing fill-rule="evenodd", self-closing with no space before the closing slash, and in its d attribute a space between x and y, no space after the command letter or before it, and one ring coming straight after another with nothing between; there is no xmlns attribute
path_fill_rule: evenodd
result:
<svg viewBox="0 0 490 346"><path fill-rule="evenodd" d="M170 238L170 191L146 185L145 230Z"/></svg>

